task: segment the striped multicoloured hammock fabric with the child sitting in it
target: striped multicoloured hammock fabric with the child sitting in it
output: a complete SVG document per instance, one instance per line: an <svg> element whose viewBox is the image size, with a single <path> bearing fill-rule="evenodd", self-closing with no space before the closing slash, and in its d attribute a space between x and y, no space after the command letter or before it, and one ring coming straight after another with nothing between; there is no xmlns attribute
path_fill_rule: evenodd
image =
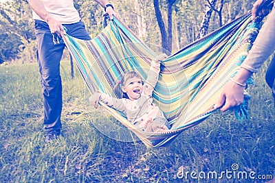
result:
<svg viewBox="0 0 275 183"><path fill-rule="evenodd" d="M162 146L217 110L213 106L222 86L238 71L259 29L260 21L244 14L162 62L153 98L172 126L168 132L145 133L121 112L100 104L145 145ZM157 56L118 19L93 40L67 34L63 39L91 93L100 90L115 96L112 88L126 71L137 71L146 79L151 59Z"/></svg>

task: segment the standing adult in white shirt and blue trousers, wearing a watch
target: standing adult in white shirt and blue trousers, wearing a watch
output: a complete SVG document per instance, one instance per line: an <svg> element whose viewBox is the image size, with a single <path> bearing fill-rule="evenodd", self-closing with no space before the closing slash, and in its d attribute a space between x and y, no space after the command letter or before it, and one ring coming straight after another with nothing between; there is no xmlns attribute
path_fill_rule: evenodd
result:
<svg viewBox="0 0 275 183"><path fill-rule="evenodd" d="M95 0L104 6L112 19L113 5L107 0ZM54 44L53 35L67 34L83 40L90 40L84 23L73 0L29 0L33 10L34 27L37 40L37 60L43 88L44 121L46 138L49 142L61 134L62 84L60 61L64 44Z"/></svg>

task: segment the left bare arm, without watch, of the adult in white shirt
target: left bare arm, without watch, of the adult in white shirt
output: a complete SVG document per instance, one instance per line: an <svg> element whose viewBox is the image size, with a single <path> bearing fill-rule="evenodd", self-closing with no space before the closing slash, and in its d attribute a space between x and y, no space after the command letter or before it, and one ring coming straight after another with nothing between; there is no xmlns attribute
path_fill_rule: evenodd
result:
<svg viewBox="0 0 275 183"><path fill-rule="evenodd" d="M49 25L50 31L54 34L58 34L61 36L61 32L65 34L65 30L59 21L56 21L52 15L45 9L43 3L40 0L28 0L30 8L38 14L41 19L45 20L45 22Z"/></svg>

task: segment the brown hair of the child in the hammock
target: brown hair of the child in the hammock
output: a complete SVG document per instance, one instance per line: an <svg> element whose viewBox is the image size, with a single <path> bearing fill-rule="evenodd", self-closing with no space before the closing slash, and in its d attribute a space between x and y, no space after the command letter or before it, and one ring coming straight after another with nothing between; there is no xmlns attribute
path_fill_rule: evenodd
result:
<svg viewBox="0 0 275 183"><path fill-rule="evenodd" d="M115 86L113 87L113 92L115 93L116 97L118 97L118 99L122 99L122 98L126 98L129 99L128 95L126 93L124 93L122 91L122 86L124 86L125 82L133 77L140 77L140 79L142 79L142 77L136 73L135 71L130 71L125 73L121 80L115 84Z"/></svg>

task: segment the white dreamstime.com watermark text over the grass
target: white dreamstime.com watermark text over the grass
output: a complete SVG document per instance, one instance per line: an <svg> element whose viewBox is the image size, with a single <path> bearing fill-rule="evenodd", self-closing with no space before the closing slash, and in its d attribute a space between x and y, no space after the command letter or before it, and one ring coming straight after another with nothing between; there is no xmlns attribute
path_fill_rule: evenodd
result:
<svg viewBox="0 0 275 183"><path fill-rule="evenodd" d="M272 180L272 175L257 175L255 171L239 171L239 164L232 164L231 169L226 169L217 173L217 171L186 171L184 168L177 172L179 179L194 180Z"/></svg>

